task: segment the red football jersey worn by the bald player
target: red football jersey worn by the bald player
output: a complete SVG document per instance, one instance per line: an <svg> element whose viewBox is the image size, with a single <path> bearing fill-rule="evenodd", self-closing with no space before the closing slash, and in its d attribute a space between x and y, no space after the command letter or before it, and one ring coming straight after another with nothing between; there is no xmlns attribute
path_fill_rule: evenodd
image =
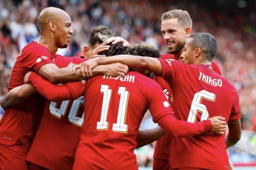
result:
<svg viewBox="0 0 256 170"><path fill-rule="evenodd" d="M54 63L53 58L55 55L51 55L46 47L37 42L26 45L12 68L8 90L23 85L24 76L28 71L38 72L42 65ZM7 146L17 144L25 147L23 153L15 152L21 159L25 159L38 128L43 105L44 99L38 94L33 95L22 104L6 108L0 120L0 144Z"/></svg>

